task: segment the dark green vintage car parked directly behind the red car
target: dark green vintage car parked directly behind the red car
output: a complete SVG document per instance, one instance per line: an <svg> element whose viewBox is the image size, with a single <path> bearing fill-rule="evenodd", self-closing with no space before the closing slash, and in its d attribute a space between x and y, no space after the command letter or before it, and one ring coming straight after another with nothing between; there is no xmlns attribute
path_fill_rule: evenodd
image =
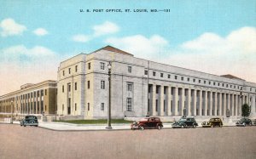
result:
<svg viewBox="0 0 256 159"><path fill-rule="evenodd" d="M196 128L198 126L194 117L181 117L177 122L172 123L172 128Z"/></svg>

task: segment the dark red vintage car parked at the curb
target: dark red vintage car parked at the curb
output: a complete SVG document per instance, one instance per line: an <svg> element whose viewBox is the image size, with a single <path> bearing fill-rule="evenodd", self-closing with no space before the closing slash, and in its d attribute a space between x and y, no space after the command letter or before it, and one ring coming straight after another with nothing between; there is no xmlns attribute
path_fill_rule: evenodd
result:
<svg viewBox="0 0 256 159"><path fill-rule="evenodd" d="M135 129L145 129L145 128L163 128L163 123L160 121L159 117L145 117L138 122L132 122L131 130Z"/></svg>

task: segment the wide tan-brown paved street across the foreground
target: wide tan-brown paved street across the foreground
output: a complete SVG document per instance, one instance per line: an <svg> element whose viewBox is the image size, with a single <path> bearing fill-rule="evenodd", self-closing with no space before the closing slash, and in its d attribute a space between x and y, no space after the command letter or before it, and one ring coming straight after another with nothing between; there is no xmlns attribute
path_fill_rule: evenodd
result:
<svg viewBox="0 0 256 159"><path fill-rule="evenodd" d="M0 124L0 158L256 158L256 127L53 131Z"/></svg>

